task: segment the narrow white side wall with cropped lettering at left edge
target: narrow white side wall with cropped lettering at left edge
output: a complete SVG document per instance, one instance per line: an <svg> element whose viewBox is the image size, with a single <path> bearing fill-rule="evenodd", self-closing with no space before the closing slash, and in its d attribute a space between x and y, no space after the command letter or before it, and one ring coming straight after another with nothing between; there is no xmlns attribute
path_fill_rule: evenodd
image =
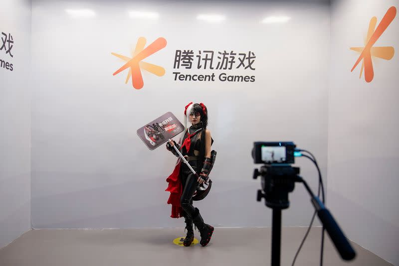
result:
<svg viewBox="0 0 399 266"><path fill-rule="evenodd" d="M2 0L0 3L0 248L31 228L29 71L30 0Z"/></svg>

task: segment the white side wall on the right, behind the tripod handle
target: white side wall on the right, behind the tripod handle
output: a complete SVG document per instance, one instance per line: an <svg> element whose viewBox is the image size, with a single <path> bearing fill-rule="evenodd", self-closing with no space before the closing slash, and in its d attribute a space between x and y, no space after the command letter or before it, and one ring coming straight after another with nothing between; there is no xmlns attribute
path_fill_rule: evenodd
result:
<svg viewBox="0 0 399 266"><path fill-rule="evenodd" d="M393 46L391 60L373 58L374 79L351 73L369 22L377 25L397 0L335 0L331 5L328 205L348 237L399 265L399 18L375 43Z"/></svg>

